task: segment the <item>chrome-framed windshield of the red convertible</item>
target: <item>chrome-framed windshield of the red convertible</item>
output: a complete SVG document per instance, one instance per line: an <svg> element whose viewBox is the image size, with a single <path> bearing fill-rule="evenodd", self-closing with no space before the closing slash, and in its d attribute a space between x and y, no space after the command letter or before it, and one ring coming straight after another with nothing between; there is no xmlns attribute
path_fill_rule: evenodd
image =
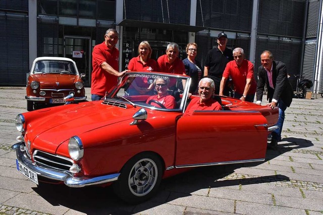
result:
<svg viewBox="0 0 323 215"><path fill-rule="evenodd" d="M111 98L151 109L183 109L189 77L158 73L127 73L105 99Z"/></svg>

